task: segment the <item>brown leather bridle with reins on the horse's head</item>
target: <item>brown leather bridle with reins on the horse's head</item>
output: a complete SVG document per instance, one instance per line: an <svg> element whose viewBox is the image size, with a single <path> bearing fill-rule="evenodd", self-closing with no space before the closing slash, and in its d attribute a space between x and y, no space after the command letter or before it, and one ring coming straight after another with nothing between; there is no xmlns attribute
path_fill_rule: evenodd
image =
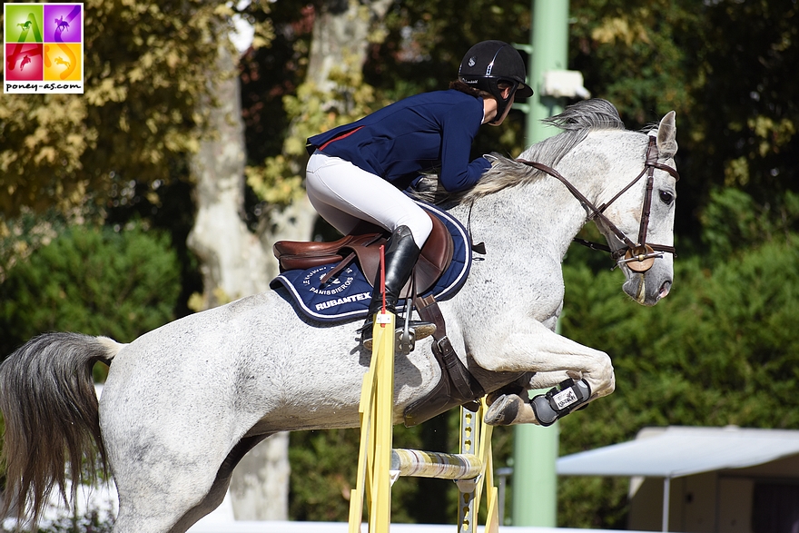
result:
<svg viewBox="0 0 799 533"><path fill-rule="evenodd" d="M619 240L625 243L625 246L622 246L616 251L611 251L610 248L604 244L587 242L583 241L582 239L575 239L575 241L585 244L589 248L611 252L611 257L615 262L617 262L617 264L626 264L631 271L643 273L651 269L652 265L655 264L655 260L658 257L663 257L664 252L675 253L674 246L646 242L646 231L649 226L649 212L652 206L652 190L655 183L655 169L660 169L670 173L677 181L680 179L680 174L677 173L676 169L663 163L657 163L657 157L658 150L656 138L650 135L649 146L646 148L646 162L644 163L644 169L632 182L628 183L624 189L619 191L616 196L611 198L609 202L603 203L599 207L590 202L582 192L577 191L577 187L575 187L572 183L569 183L566 178L560 175L560 173L558 173L552 167L547 166L546 164L536 163L534 161L527 161L525 159L517 159L516 161L518 163L524 163L528 166L536 168L541 172L547 173L566 185L568 191L571 192L575 198L577 198L577 201L580 202L583 208L588 212L588 220L599 219L599 221L602 222L602 224L605 225L608 230L613 232L619 238ZM634 184L636 184L638 180L644 176L644 174L646 174L647 177L644 207L641 211L641 225L638 228L637 242L632 242L624 232L617 228L616 224L610 222L610 219L605 216L604 212L608 205L616 202L618 197L624 194Z"/></svg>

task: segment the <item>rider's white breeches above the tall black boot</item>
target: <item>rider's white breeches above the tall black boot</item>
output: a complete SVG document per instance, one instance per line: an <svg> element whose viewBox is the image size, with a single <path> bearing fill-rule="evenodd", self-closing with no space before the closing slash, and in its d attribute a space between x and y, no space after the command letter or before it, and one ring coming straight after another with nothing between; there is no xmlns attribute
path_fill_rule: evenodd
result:
<svg viewBox="0 0 799 533"><path fill-rule="evenodd" d="M360 221L393 232L408 226L419 248L433 229L429 215L391 183L319 150L306 169L308 199L323 219L347 235Z"/></svg>

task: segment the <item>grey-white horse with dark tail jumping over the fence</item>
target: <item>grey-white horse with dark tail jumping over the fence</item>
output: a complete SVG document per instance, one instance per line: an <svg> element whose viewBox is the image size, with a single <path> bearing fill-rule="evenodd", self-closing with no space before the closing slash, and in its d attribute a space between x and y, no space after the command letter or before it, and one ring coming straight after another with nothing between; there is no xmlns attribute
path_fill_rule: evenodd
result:
<svg viewBox="0 0 799 533"><path fill-rule="evenodd" d="M651 216L643 225L648 242L671 245L674 112L636 133L625 130L611 104L592 100L551 123L565 131L522 157L551 165L594 205L641 173L654 136ZM625 236L639 243L645 182L610 202L607 219L595 219L613 250ZM554 177L499 158L477 188L449 206L486 252L440 309L459 357L493 392L494 423L537 422L527 394L496 392L520 375L525 389L581 379L590 400L614 390L607 353L554 332L564 296L561 261L589 218L584 203ZM671 253L651 262L647 271L620 263L624 291L644 305L665 297L673 278ZM193 314L129 344L74 333L29 341L0 367L5 507L18 518L37 518L51 489L64 491L64 459L74 478L96 464L84 459L94 440L119 491L113 530L185 531L221 503L232 469L262 439L283 430L358 426L370 362L358 326L303 319L279 290ZM90 371L98 360L111 365L99 407ZM395 423L439 378L429 339L397 356Z"/></svg>

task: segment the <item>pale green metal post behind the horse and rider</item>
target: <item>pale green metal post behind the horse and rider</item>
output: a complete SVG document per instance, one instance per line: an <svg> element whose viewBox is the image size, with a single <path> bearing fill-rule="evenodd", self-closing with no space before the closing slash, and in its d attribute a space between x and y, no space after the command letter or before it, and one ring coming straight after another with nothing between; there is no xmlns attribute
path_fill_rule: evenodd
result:
<svg viewBox="0 0 799 533"><path fill-rule="evenodd" d="M529 99L527 144L557 133L541 120L563 111L560 98L543 96L544 72L567 69L568 0L531 0L532 54L528 54ZM558 328L559 330L559 328ZM559 331L558 331L559 332ZM557 526L557 461L559 428L520 425L514 430L511 519L514 526Z"/></svg>

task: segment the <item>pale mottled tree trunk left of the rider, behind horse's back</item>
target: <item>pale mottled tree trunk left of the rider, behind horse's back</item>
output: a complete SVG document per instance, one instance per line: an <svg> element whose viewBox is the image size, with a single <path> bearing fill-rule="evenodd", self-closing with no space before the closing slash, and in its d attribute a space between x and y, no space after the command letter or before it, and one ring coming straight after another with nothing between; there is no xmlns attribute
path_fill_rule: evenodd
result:
<svg viewBox="0 0 799 533"><path fill-rule="evenodd" d="M277 262L242 221L244 205L244 127L239 78L230 52L220 46L219 64L229 77L215 84L219 107L211 111L216 137L192 156L197 215L189 246L200 259L208 309L269 290ZM308 231L303 230L303 237ZM233 472L233 515L240 520L285 520L289 508L288 433L261 442Z"/></svg>

